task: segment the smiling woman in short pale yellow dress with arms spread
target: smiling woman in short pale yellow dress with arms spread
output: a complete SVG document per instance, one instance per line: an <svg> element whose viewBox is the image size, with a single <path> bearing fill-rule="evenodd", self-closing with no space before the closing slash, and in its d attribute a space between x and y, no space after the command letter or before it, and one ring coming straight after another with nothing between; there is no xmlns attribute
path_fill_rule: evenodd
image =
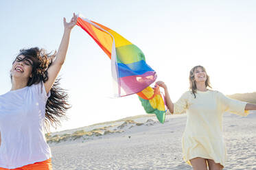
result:
<svg viewBox="0 0 256 170"><path fill-rule="evenodd" d="M194 170L221 170L225 165L226 147L222 136L222 116L233 112L246 116L256 110L255 104L229 99L210 90L209 75L203 66L194 66L189 73L189 91L173 104L164 82L156 82L165 90L167 108L173 114L187 112L182 138L183 159Z"/></svg>

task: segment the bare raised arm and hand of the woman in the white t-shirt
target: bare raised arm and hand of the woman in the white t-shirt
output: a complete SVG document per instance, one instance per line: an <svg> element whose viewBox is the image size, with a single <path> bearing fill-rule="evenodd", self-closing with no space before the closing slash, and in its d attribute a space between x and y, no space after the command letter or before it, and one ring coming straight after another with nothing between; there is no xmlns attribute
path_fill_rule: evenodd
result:
<svg viewBox="0 0 256 170"><path fill-rule="evenodd" d="M60 42L60 47L58 48L58 52L56 53L56 58L54 62L51 64L51 66L49 66L49 69L47 70L49 77L47 82L45 82L45 90L47 93L49 93L49 90L51 90L51 86L54 84L56 77L58 76L58 73L60 72L60 69L62 67L62 64L65 62L67 49L69 47L69 37L71 29L75 26L76 21L77 16L75 16L75 13L73 13L73 18L69 23L66 22L65 18L63 19L64 34Z"/></svg>

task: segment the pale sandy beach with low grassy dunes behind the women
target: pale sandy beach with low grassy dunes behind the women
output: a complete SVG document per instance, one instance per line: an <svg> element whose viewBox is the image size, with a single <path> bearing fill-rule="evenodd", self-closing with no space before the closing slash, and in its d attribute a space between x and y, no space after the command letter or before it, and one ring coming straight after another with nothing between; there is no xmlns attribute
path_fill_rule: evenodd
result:
<svg viewBox="0 0 256 170"><path fill-rule="evenodd" d="M182 158L186 114L164 124L144 114L49 134L53 167L60 169L192 169ZM224 169L256 169L256 113L224 114Z"/></svg>

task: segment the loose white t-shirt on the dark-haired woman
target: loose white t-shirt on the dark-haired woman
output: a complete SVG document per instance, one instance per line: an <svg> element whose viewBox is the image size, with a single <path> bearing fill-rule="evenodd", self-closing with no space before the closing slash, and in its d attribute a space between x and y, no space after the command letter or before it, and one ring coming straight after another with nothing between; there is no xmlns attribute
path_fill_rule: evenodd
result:
<svg viewBox="0 0 256 170"><path fill-rule="evenodd" d="M14 169L51 158L45 140L43 82L0 95L0 167Z"/></svg>

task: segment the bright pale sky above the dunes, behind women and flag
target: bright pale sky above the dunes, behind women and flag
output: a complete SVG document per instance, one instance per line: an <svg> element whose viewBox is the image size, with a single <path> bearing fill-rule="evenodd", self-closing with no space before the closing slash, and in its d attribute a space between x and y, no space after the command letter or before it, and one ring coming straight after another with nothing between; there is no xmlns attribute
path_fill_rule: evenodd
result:
<svg viewBox="0 0 256 170"><path fill-rule="evenodd" d="M11 88L10 69L19 49L58 49L62 17L72 13L115 30L146 56L173 101L188 89L189 71L201 64L214 89L229 95L255 91L256 1L2 1L0 0L0 95ZM65 130L146 114L137 95L110 99L110 60L76 26L60 73L68 90Z"/></svg>

